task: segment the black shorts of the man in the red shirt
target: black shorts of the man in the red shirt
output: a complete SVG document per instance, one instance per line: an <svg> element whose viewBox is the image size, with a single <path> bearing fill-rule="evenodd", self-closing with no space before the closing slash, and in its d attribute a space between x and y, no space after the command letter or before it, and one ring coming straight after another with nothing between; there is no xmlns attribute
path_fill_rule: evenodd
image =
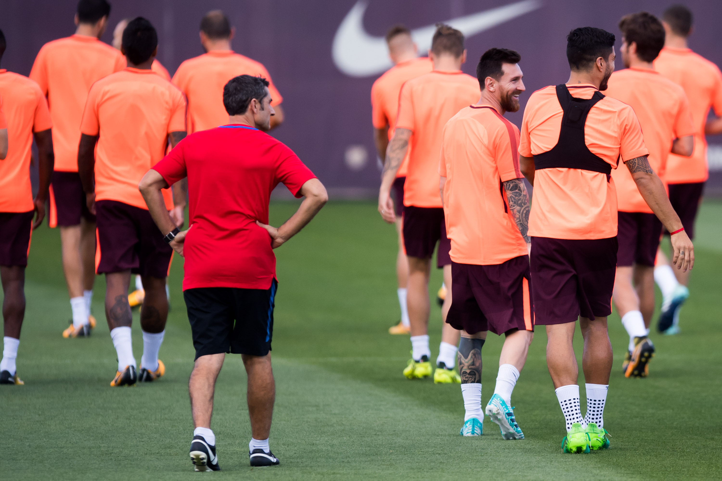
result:
<svg viewBox="0 0 722 481"><path fill-rule="evenodd" d="M183 291L196 359L219 353L266 356L278 282L268 289L199 287Z"/></svg>

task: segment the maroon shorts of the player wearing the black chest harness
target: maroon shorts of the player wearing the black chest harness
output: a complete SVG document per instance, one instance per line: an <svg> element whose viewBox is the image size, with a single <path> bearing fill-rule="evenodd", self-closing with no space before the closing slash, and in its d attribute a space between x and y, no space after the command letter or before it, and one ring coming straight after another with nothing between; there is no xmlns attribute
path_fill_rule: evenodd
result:
<svg viewBox="0 0 722 481"><path fill-rule="evenodd" d="M617 237L531 238L531 296L536 325L612 314Z"/></svg>

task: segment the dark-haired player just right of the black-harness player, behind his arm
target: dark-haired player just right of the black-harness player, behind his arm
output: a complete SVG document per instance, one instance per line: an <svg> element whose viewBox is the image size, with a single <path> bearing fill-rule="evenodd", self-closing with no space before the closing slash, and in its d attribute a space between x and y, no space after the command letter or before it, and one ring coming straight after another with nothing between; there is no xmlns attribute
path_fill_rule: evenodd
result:
<svg viewBox="0 0 722 481"><path fill-rule="evenodd" d="M652 66L664 46L664 27L652 14L639 12L622 17L622 63L625 69L609 77L604 94L634 109L649 151L647 162L662 182L666 180L670 151L692 155L695 128L687 95ZM617 187L617 275L614 305L630 336L622 361L626 377L647 376L654 345L648 338L654 314L654 258L662 224L652 213L628 169L614 169ZM632 359L634 362L632 362Z"/></svg>

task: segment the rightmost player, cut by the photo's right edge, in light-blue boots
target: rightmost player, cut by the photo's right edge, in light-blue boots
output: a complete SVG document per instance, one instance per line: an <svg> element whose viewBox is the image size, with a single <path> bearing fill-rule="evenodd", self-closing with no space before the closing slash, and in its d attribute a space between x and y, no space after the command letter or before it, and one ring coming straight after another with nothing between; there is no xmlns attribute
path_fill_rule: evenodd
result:
<svg viewBox="0 0 722 481"><path fill-rule="evenodd" d="M673 5L662 15L666 32L664 48L654 61L654 69L662 76L682 86L687 94L695 128L695 150L691 157L669 154L666 181L669 185L669 201L682 219L684 231L695 238L695 219L700 206L708 175L708 135L722 133L722 73L718 66L687 46L692 35L692 12L684 5ZM710 107L716 118L708 122ZM705 125L706 124L706 125ZM706 128L705 128L706 127ZM669 232L665 231L665 235ZM654 280L662 292L662 311L657 330L665 334L679 332L679 309L690 291L690 271L672 269L664 252L657 251Z"/></svg>

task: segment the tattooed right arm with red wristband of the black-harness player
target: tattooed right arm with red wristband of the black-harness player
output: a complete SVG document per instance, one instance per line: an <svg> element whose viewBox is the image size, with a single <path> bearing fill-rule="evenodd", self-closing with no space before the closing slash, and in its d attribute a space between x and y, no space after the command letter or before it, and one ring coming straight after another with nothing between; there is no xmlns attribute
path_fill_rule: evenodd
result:
<svg viewBox="0 0 722 481"><path fill-rule="evenodd" d="M690 237L687 232L682 229L682 221L679 220L677 212L669 203L664 185L659 177L653 172L649 166L647 156L635 157L635 159L627 160L627 169L632 174L639 189L639 193L645 202L652 209L653 213L658 217L661 223L671 234L671 244L674 249L672 263L677 265L677 269L686 271L692 269L695 265L695 248L692 246Z"/></svg>

